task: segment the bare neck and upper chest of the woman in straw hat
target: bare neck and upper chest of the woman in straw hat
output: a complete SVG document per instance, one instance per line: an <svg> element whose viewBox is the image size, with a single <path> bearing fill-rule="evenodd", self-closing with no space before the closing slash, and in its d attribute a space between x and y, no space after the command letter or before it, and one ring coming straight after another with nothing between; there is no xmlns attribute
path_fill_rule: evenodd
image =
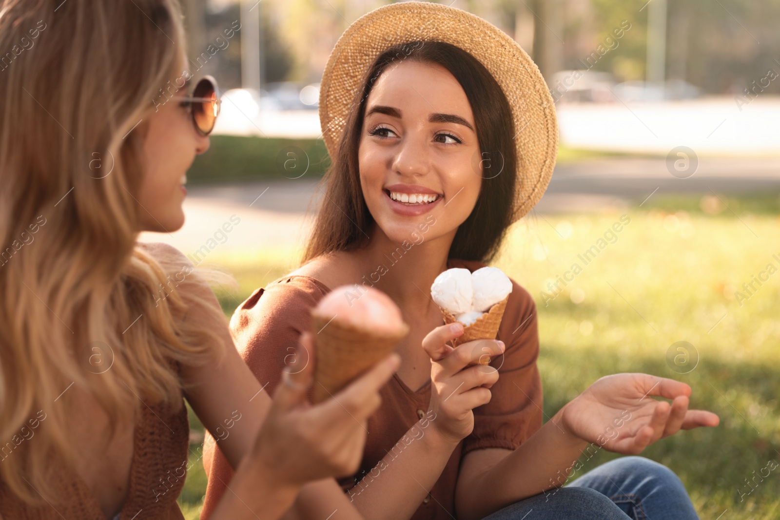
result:
<svg viewBox="0 0 780 520"><path fill-rule="evenodd" d="M447 269L455 233L398 244L374 225L371 235L368 246L351 252L356 266L363 272L359 283L373 285L385 292L402 310L423 312L434 307L431 285L438 274Z"/></svg>

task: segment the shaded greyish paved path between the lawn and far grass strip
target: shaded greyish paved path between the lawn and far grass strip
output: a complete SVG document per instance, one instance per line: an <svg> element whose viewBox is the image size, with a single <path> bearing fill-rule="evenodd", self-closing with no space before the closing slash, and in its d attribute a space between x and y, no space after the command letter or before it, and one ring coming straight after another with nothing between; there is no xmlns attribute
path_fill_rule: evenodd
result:
<svg viewBox="0 0 780 520"><path fill-rule="evenodd" d="M695 171L676 172L665 158L615 157L559 164L537 204L542 214L601 211L627 207L664 193L780 193L780 158L702 158ZM670 173L685 176L675 177ZM232 254L247 249L296 249L305 241L310 212L321 202L318 179L257 181L191 186L184 202L186 223L173 233L144 233L144 242L168 242L186 254L197 250ZM218 229L240 219L232 231ZM217 242L211 241L217 234ZM223 235L225 237L223 238ZM214 246L214 244L217 246Z"/></svg>

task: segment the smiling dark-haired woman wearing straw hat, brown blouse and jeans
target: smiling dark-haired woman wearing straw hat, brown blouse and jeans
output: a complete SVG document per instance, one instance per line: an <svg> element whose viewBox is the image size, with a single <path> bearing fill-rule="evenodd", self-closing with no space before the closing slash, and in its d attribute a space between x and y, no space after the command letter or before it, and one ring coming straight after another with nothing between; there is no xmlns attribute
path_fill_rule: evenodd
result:
<svg viewBox="0 0 780 520"><path fill-rule="evenodd" d="M303 266L250 296L231 326L273 386L285 345L330 288L356 285L355 297L371 285L399 304L411 333L369 420L360 472L340 481L349 501L372 520L697 518L662 465L628 457L582 475L587 462L577 462L583 450L638 454L681 428L717 425L688 409L686 384L604 377L542 426L537 315L517 284L497 341L446 345L463 327L441 325L432 281L483 267L553 169L555 111L527 54L459 9L387 5L336 44L320 101L333 165ZM485 353L491 367L473 365ZM230 477L218 452L209 470L204 516ZM562 487L571 473L580 478Z"/></svg>

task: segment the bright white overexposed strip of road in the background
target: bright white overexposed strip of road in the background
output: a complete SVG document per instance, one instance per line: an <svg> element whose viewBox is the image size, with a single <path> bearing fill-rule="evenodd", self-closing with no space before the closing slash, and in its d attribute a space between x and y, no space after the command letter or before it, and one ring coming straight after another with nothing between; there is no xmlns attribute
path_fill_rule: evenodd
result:
<svg viewBox="0 0 780 520"><path fill-rule="evenodd" d="M761 94L750 104L734 97L627 103L558 103L561 143L585 150L665 155L690 147L699 155L780 157L780 97ZM240 99L222 104L216 134L321 136L316 110L258 111Z"/></svg>

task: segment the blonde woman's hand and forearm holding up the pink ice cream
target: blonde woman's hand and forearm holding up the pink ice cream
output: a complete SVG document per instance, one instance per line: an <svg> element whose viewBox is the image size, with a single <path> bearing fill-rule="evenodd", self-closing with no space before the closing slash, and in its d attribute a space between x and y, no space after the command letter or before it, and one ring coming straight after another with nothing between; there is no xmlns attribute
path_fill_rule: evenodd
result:
<svg viewBox="0 0 780 520"><path fill-rule="evenodd" d="M312 335L305 334L302 342L311 352ZM354 472L362 456L368 416L381 401L379 388L399 363L399 356L389 356L317 406L307 401L314 380L312 367L286 372L257 439L211 518L281 518L305 484ZM336 518L361 518L350 509L346 504ZM332 512L329 516L333 518Z"/></svg>

